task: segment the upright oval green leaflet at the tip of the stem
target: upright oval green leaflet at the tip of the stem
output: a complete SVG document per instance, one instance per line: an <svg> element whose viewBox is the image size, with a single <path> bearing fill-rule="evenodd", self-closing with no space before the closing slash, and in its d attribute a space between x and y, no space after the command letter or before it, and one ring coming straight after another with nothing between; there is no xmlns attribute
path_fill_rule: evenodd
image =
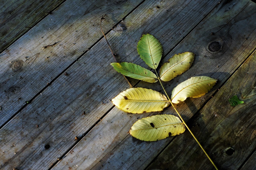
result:
<svg viewBox="0 0 256 170"><path fill-rule="evenodd" d="M137 51L149 67L156 69L163 54L163 46L153 35L145 34L138 42Z"/></svg>

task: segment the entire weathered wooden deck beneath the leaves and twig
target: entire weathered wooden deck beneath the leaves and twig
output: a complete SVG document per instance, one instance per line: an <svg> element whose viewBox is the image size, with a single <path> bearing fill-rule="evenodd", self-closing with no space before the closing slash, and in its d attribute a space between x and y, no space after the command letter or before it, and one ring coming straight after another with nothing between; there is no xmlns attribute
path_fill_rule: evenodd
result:
<svg viewBox="0 0 256 170"><path fill-rule="evenodd" d="M218 79L177 110L219 169L256 169L254 2L10 0L0 13L0 169L214 169L188 130L156 142L127 133L137 119L176 113L129 114L110 102L129 84L110 65L104 14L118 61L149 68L136 49L145 33L162 43L161 63L195 53L167 93L192 76ZM209 50L215 41L221 47ZM233 95L244 104L231 107Z"/></svg>

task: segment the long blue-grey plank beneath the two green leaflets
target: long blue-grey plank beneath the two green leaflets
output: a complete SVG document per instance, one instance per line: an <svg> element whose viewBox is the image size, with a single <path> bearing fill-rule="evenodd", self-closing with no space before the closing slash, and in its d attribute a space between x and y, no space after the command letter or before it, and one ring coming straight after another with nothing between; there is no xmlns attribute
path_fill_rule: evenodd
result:
<svg viewBox="0 0 256 170"><path fill-rule="evenodd" d="M166 42L165 49L170 49L217 4L218 1L200 4L196 1L171 1L171 3L147 1L127 17L127 20L122 22L123 25L120 24L119 27L126 27L126 30L119 31L120 29L116 28L110 32L109 41L113 44L113 49L119 49L120 55L136 61L139 58L136 43L141 34L151 32L161 42ZM198 5L196 11L193 9L195 5ZM194 16L189 16L192 11L195 12ZM106 22L107 20L104 20L103 24ZM169 26L172 24L173 28L170 31ZM184 32L180 31L181 27L186 27ZM175 38L169 38L172 36ZM102 49L102 47L106 48ZM111 60L105 40L100 41L67 70L67 75L61 75L42 92L42 95L8 122L0 131L3 141L1 149L6 150L1 160L8 161L3 167L11 168L12 165L17 168L49 167L76 142L75 136L82 137L82 133L89 130L112 107L108 99L127 88L126 82L122 82L123 77L116 76L118 74L109 65ZM141 60L138 62L142 63ZM82 114L84 111L85 115ZM38 128L36 123L39 123ZM10 147L14 145L13 143L15 146ZM49 149L45 148L47 144L50 146ZM14 152L16 155L10 156Z"/></svg>

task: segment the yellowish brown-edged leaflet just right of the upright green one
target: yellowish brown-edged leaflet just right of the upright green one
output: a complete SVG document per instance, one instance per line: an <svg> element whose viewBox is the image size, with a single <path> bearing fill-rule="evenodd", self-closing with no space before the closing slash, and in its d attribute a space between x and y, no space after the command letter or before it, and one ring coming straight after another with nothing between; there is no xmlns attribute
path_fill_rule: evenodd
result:
<svg viewBox="0 0 256 170"><path fill-rule="evenodd" d="M193 52L175 54L160 68L160 79L163 81L170 81L174 77L181 75L190 68L194 58L195 54Z"/></svg>

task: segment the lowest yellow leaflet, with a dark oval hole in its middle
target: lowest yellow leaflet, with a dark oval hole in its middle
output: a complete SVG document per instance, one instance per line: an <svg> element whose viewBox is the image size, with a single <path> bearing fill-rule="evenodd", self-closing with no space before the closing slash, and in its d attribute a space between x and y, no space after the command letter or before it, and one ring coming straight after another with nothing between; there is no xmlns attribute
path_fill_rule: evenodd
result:
<svg viewBox="0 0 256 170"><path fill-rule="evenodd" d="M161 114L135 122L129 133L142 141L158 141L185 131L185 125L174 115Z"/></svg>

